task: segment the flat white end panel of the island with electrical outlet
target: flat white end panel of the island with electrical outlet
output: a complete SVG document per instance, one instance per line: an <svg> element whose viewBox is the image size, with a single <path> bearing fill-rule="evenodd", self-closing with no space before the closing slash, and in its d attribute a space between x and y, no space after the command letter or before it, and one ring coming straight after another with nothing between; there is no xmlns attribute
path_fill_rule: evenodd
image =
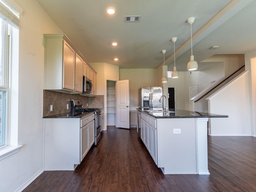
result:
<svg viewBox="0 0 256 192"><path fill-rule="evenodd" d="M198 174L195 119L157 119L158 167L164 174Z"/></svg>

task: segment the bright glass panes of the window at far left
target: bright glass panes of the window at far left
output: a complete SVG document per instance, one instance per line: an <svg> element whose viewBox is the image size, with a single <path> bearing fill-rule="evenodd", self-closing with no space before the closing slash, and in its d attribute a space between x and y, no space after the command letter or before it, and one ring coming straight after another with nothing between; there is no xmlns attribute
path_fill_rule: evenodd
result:
<svg viewBox="0 0 256 192"><path fill-rule="evenodd" d="M6 145L6 95L8 88L8 24L0 18L0 147Z"/></svg>

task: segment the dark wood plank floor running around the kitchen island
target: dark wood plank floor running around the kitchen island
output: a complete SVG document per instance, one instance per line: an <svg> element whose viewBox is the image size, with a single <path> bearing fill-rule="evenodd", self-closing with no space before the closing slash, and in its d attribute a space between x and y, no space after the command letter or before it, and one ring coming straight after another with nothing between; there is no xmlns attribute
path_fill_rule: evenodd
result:
<svg viewBox="0 0 256 192"><path fill-rule="evenodd" d="M23 192L255 192L256 138L209 136L210 175L164 175L135 129L109 126L75 171L45 171Z"/></svg>

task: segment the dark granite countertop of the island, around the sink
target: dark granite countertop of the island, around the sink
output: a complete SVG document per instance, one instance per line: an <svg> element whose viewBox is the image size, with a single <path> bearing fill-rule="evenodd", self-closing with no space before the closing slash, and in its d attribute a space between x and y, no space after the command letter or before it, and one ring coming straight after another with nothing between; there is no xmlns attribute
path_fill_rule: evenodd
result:
<svg viewBox="0 0 256 192"><path fill-rule="evenodd" d="M228 117L227 115L210 114L203 112L187 111L180 109L169 109L170 112L146 112L143 108L137 110L144 112L154 118L216 118L216 117Z"/></svg>

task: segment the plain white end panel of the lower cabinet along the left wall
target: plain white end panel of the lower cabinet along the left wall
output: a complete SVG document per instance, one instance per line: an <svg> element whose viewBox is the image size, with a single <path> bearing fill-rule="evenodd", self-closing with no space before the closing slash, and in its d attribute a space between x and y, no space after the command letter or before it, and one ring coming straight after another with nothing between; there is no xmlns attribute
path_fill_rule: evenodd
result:
<svg viewBox="0 0 256 192"><path fill-rule="evenodd" d="M44 170L80 164L80 118L44 118Z"/></svg>

